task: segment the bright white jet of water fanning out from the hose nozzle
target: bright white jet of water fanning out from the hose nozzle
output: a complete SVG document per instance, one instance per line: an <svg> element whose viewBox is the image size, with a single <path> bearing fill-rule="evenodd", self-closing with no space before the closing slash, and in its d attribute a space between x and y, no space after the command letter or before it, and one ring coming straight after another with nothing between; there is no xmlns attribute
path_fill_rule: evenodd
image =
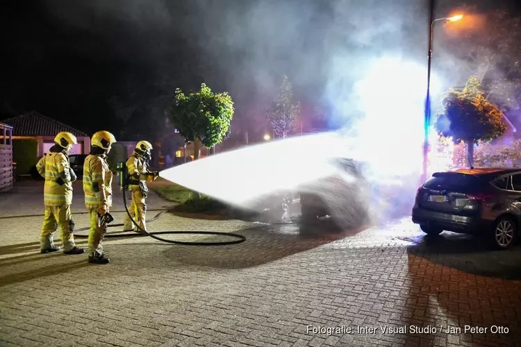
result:
<svg viewBox="0 0 521 347"><path fill-rule="evenodd" d="M290 137L195 160L160 176L243 208L259 198L338 173L332 158L352 158L349 142L333 132Z"/></svg>

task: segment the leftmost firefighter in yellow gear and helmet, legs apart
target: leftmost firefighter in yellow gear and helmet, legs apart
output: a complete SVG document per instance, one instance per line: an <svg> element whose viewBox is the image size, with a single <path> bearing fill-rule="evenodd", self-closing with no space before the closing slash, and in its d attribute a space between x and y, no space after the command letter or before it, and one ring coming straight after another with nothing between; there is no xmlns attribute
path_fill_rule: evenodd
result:
<svg viewBox="0 0 521 347"><path fill-rule="evenodd" d="M45 178L44 205L45 215L40 232L41 253L60 250L53 242L53 232L60 229L63 253L81 254L83 248L74 244L74 221L72 220L72 183L76 174L69 164L69 152L72 144L77 144L76 136L63 131L54 138L54 145L36 164L38 174Z"/></svg>

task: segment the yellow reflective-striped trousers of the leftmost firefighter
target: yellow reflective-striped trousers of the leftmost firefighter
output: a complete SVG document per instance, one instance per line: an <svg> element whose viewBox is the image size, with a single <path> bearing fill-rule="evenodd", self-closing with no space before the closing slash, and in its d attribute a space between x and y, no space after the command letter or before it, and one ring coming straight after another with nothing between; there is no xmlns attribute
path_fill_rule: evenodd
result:
<svg viewBox="0 0 521 347"><path fill-rule="evenodd" d="M72 235L73 226L71 205L45 206L42 231L40 232L40 248L44 250L53 247L53 232L58 228L60 229L64 251L72 250L76 246Z"/></svg>

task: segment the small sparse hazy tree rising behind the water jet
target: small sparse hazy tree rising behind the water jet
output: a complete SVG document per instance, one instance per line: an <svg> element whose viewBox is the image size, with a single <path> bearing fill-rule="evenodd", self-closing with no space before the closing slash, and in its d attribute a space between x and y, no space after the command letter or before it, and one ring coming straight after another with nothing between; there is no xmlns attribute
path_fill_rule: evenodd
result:
<svg viewBox="0 0 521 347"><path fill-rule="evenodd" d="M293 102L292 85L288 76L284 75L279 95L270 108L265 110L265 116L272 124L275 135L286 137L293 130L295 117L300 112L300 103Z"/></svg>

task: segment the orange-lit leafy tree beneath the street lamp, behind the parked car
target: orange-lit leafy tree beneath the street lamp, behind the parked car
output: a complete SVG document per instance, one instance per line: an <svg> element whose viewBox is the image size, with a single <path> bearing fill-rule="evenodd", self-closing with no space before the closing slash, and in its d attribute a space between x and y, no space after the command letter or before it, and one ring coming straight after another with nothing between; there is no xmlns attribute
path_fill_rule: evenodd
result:
<svg viewBox="0 0 521 347"><path fill-rule="evenodd" d="M506 130L503 113L490 103L477 76L471 76L463 91L449 90L443 99L443 115L436 120L438 133L452 137L455 144L467 144L468 164L474 158L474 144L491 141Z"/></svg>

